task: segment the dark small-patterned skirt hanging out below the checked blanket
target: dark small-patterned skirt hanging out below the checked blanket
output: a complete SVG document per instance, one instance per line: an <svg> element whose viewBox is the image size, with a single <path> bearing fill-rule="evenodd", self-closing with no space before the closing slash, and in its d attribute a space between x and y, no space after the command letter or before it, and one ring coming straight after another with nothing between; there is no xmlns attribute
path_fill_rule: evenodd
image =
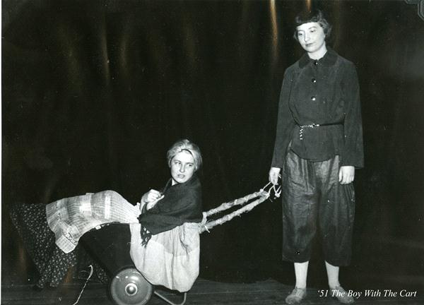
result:
<svg viewBox="0 0 424 305"><path fill-rule="evenodd" d="M69 268L77 265L81 269L93 264L98 279L107 281L107 275L83 249L75 249L69 253L61 251L54 243L54 233L47 225L46 205L14 205L11 208L11 220L23 239L25 249L40 273L37 287L57 287L64 281Z"/></svg>

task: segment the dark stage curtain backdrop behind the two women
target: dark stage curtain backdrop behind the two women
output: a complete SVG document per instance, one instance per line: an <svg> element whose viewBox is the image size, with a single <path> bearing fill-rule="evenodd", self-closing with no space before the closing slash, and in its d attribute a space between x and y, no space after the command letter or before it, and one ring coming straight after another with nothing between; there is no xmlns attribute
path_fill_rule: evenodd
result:
<svg viewBox="0 0 424 305"><path fill-rule="evenodd" d="M264 186L283 73L302 54L290 25L308 2L2 1L3 278L34 273L8 206L105 189L136 203L169 177L179 138L203 152L204 210ZM365 169L342 280L422 289L424 20L405 1L312 4L361 86ZM293 284L279 201L202 234L201 249L201 277ZM323 266L317 244L312 285Z"/></svg>

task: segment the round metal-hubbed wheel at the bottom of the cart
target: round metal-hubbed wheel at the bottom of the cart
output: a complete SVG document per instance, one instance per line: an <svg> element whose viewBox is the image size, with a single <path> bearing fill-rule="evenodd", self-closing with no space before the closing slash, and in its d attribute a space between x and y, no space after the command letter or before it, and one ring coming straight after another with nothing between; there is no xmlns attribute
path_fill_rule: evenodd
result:
<svg viewBox="0 0 424 305"><path fill-rule="evenodd" d="M117 305L143 305L153 293L149 283L136 268L127 268L115 275L110 282L110 296Z"/></svg>

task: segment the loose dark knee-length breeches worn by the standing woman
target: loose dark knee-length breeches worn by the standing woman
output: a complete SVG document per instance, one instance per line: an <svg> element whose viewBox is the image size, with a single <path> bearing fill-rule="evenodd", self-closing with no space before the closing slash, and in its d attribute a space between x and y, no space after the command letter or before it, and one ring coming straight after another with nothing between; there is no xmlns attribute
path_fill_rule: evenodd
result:
<svg viewBox="0 0 424 305"><path fill-rule="evenodd" d="M348 265L355 216L353 184L338 182L339 157L322 162L288 151L283 168L283 259L310 260L316 232L325 260Z"/></svg>

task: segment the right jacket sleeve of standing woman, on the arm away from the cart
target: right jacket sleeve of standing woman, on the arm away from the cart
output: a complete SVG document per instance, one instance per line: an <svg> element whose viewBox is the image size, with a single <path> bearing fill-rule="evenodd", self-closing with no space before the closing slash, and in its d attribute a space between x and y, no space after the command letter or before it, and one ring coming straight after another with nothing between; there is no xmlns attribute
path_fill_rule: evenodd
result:
<svg viewBox="0 0 424 305"><path fill-rule="evenodd" d="M352 63L346 68L342 80L345 100L344 146L341 152L341 166L364 167L363 127L360 111L358 75Z"/></svg>

